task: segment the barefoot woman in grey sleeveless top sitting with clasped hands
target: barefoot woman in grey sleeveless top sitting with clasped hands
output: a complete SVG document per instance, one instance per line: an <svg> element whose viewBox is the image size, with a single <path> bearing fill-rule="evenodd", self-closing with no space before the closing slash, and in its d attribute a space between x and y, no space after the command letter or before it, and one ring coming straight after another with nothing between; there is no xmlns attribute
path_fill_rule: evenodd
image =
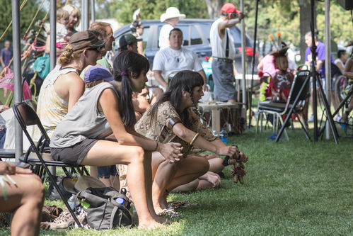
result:
<svg viewBox="0 0 353 236"><path fill-rule="evenodd" d="M127 184L140 228L161 226L151 201L151 152L174 162L180 144L163 144L134 131L132 92L147 82L149 61L136 52L121 52L114 61L114 80L87 89L52 135L52 157L66 164L127 164Z"/></svg>

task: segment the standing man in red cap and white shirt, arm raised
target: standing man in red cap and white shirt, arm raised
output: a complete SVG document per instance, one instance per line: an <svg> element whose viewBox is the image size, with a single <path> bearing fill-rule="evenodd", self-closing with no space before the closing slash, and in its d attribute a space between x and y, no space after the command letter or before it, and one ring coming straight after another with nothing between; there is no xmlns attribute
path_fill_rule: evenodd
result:
<svg viewBox="0 0 353 236"><path fill-rule="evenodd" d="M236 17L238 15L238 17ZM221 16L214 21L210 30L212 47L212 77L214 79L214 99L217 101L236 102L233 60L236 57L234 40L229 28L235 26L245 17L233 4L224 4Z"/></svg>

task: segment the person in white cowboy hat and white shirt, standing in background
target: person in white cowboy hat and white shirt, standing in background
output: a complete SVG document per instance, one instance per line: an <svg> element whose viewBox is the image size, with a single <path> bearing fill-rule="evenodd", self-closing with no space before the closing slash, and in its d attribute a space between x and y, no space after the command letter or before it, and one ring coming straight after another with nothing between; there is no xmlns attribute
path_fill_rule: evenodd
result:
<svg viewBox="0 0 353 236"><path fill-rule="evenodd" d="M180 14L176 7L169 7L166 13L161 15L161 22L166 21L166 24L161 28L161 33L159 33L158 46L160 50L169 47L170 30L173 30L178 24L180 17L185 18L185 14Z"/></svg>

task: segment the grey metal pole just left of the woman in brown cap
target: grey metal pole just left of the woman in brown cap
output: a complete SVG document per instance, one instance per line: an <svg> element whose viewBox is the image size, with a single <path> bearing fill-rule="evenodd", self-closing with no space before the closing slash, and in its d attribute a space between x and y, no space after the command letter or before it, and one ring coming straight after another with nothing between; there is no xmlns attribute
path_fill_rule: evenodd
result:
<svg viewBox="0 0 353 236"><path fill-rule="evenodd" d="M57 0L50 0L50 70L57 64Z"/></svg>

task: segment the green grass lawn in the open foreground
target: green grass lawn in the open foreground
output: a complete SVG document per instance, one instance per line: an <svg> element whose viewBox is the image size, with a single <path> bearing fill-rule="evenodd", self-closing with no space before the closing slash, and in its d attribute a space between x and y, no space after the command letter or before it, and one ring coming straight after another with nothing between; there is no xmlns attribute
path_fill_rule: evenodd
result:
<svg viewBox="0 0 353 236"><path fill-rule="evenodd" d="M353 235L352 139L340 137L339 145L332 138L313 142L298 128L288 130L290 142L274 143L267 140L270 130L257 137L254 130L228 137L249 157L245 184L234 184L226 167L221 189L171 193L168 201L198 206L178 210L180 218L166 230L74 229L42 235Z"/></svg>

